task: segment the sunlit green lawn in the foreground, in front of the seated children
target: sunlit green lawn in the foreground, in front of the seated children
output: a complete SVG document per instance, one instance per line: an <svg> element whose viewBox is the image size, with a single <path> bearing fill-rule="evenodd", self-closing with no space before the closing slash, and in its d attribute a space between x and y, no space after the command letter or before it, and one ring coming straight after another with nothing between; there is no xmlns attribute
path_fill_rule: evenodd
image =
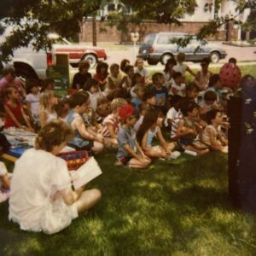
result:
<svg viewBox="0 0 256 256"><path fill-rule="evenodd" d="M182 155L145 172L98 157L102 201L53 236L19 230L0 205L0 255L255 255L256 219L227 192L227 156Z"/></svg>

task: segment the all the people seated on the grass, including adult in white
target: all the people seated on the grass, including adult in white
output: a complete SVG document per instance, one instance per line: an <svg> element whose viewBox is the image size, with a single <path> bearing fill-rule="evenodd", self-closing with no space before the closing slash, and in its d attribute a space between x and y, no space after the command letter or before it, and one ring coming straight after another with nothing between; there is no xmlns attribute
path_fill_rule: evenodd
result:
<svg viewBox="0 0 256 256"><path fill-rule="evenodd" d="M94 76L89 63L81 61L71 95L64 98L55 96L53 80L45 80L43 88L34 79L22 84L14 68L6 67L0 80L4 127L38 132L35 148L15 164L9 218L22 230L51 234L101 198L97 189L71 189L67 165L55 156L66 145L90 155L112 148L117 152L115 165L134 168L146 168L154 159L176 159L180 151L227 153L222 81L208 71L207 59L196 74L183 61L183 54L167 61L164 73L154 73L152 81L142 59L136 67L122 61L121 70L114 63L110 73L108 64L99 62ZM194 82L187 82L185 72ZM0 162L0 201L9 197L9 186ZM32 194L38 197L27 201Z"/></svg>

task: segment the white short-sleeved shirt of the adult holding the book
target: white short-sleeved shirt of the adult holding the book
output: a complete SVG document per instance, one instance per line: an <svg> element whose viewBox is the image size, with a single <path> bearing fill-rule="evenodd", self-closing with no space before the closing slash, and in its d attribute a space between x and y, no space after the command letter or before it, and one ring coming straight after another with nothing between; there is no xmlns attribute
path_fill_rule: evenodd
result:
<svg viewBox="0 0 256 256"><path fill-rule="evenodd" d="M9 197L9 219L21 230L40 231L49 207L49 195L71 186L65 160L31 148L15 162Z"/></svg>

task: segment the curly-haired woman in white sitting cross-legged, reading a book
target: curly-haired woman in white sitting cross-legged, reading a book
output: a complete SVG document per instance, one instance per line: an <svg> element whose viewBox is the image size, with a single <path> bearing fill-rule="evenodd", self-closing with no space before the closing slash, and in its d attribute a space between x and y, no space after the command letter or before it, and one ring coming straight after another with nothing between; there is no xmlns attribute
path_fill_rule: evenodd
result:
<svg viewBox="0 0 256 256"><path fill-rule="evenodd" d="M15 162L9 198L9 219L21 230L59 232L93 207L101 198L98 189L72 189L71 177L60 153L73 137L61 120L54 120L38 133L35 148Z"/></svg>

